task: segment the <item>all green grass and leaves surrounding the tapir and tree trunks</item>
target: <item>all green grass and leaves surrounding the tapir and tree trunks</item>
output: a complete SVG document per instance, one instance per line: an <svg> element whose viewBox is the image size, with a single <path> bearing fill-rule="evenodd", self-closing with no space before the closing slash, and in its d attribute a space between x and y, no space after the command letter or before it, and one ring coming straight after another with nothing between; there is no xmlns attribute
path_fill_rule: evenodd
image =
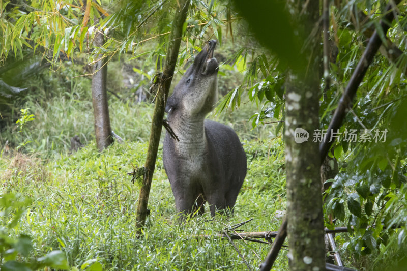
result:
<svg viewBox="0 0 407 271"><path fill-rule="evenodd" d="M270 52L267 41L265 47L257 43L231 3L192 1L173 83L202 42L219 41L215 57L221 63L218 84L224 97L209 117L240 136L248 175L230 220L205 214L183 225L175 219L160 148L151 213L139 238L134 229L139 180L132 182L127 173L142 167L146 157L153 111L148 89L156 68L163 65L175 2L88 1L92 5L80 6L82 1L73 1L80 7L62 8L51 2L0 4L0 32L8 37L0 46L2 268L242 270L247 268L243 259L257 268L269 245L235 241L242 258L216 234L250 218L253 221L239 230L274 231L282 222L283 122L264 123L285 116L284 51ZM329 40L333 53L320 89L321 129L327 129L385 8L379 1L334 4ZM407 19L405 5L398 7L399 16L387 34L389 43L374 58L332 148L338 174L328 180L332 185L324 193L325 226L349 228L335 239L345 265L362 270L407 266ZM51 15L42 16L40 9ZM55 9L58 12L51 13ZM110 39L98 49L86 35L93 35L99 20L111 32L106 31ZM89 31L83 31L84 25ZM256 37L260 28L254 29ZM310 38L318 39L314 33ZM281 37L278 42L286 41ZM91 80L81 76L90 73L88 64L99 51L109 58L111 127L125 139L102 153L94 141ZM371 140L358 137L351 142L346 137L351 129ZM375 142L375 129L387 129L384 142ZM74 135L85 144L78 152L70 149ZM210 237L196 238L203 234ZM275 268L288 269L285 251Z"/></svg>

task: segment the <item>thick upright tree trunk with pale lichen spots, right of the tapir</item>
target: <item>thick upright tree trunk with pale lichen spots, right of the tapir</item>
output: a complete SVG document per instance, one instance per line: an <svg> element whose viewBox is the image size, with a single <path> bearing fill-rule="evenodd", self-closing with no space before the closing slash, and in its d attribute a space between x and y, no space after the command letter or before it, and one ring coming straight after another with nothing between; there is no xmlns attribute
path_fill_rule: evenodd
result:
<svg viewBox="0 0 407 271"><path fill-rule="evenodd" d="M303 6L306 5L306 6ZM290 4L295 10L304 44L306 70L290 70L286 79L285 162L287 174L288 262L291 270L324 270L324 223L319 145L313 142L313 131L319 128L319 67L321 46L316 22L319 3L298 0ZM305 12L304 12L305 11ZM301 142L301 134L309 133ZM297 142L296 142L297 141Z"/></svg>

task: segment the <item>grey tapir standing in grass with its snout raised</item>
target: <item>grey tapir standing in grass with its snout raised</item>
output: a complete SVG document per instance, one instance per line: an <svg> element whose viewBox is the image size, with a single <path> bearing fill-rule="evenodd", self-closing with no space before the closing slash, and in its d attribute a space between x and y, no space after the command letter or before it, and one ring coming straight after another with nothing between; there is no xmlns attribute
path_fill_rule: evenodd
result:
<svg viewBox="0 0 407 271"><path fill-rule="evenodd" d="M246 176L247 162L235 131L205 119L217 99L216 41L209 41L167 100L169 126L179 141L166 134L164 168L178 212L211 215L232 209Z"/></svg>

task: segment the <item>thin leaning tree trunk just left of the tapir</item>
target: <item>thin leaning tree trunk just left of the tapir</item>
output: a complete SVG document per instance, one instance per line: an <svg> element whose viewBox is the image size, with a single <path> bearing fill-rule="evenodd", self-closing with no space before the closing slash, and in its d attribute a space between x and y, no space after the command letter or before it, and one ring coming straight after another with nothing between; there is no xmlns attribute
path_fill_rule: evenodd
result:
<svg viewBox="0 0 407 271"><path fill-rule="evenodd" d="M161 129L163 125L165 103L168 97L169 87L177 63L178 52L182 39L182 26L187 18L189 0L178 0L178 9L172 22L171 36L169 38L167 56L164 70L158 78L158 93L156 95L154 115L151 124L150 142L147 152L146 164L144 164L143 183L140 188L137 206L137 232L141 233L141 228L146 223L147 204L149 201L151 181L157 159L158 145L160 143Z"/></svg>

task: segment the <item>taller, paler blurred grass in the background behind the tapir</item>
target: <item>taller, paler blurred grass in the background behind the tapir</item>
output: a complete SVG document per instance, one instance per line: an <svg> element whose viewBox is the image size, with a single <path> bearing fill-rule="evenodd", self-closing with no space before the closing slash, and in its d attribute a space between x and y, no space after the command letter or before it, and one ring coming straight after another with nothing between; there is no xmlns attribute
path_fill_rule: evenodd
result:
<svg viewBox="0 0 407 271"><path fill-rule="evenodd" d="M24 140L31 141L25 147L26 152L35 152L36 156L43 159L54 158L69 152L70 139L74 135L79 135L85 144L94 139L91 81L84 77L67 81L68 76L74 76L75 72L75 67L62 65L61 71L38 75L38 78L33 80L34 86L29 95L15 103L15 106L20 108L30 108L30 113L35 117L35 121L28 123L27 132L24 133ZM221 81L230 84L230 81L236 83L235 79L239 76L223 77ZM113 90L119 92L120 87ZM150 135L154 105L137 104L129 92L126 90L120 94L126 101L110 95L111 128L126 140L145 142ZM244 103L242 110L225 111L220 115L211 114L209 118L234 128L242 139L274 137L274 126L252 129L249 118L257 109L250 102ZM19 113L19 109L15 112ZM17 113L12 115L18 116ZM7 125L0 129L0 145L4 145L7 140L11 147L20 144L21 135L17 131L17 125L8 119Z"/></svg>

